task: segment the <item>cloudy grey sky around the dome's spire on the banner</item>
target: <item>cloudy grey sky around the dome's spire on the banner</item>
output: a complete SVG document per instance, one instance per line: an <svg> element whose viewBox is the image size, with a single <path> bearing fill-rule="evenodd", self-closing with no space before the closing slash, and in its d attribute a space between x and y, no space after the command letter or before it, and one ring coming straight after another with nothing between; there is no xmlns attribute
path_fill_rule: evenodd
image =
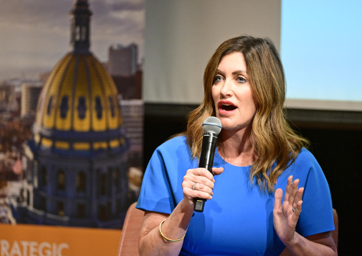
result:
<svg viewBox="0 0 362 256"><path fill-rule="evenodd" d="M0 0L0 81L51 70L70 51L73 0ZM108 60L110 45L144 52L144 0L89 0L90 50Z"/></svg>

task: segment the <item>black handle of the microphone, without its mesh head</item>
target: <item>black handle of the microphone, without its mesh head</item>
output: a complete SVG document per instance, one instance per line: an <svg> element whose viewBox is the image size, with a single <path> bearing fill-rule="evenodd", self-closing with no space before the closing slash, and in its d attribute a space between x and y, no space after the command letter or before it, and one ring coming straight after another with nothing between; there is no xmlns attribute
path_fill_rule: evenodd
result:
<svg viewBox="0 0 362 256"><path fill-rule="evenodd" d="M210 132L204 133L202 139L199 168L206 168L207 170L209 170L210 173L212 173L212 164L214 163L214 155L215 155L217 139L218 136L215 133L210 133ZM194 201L195 201L194 211L203 212L206 199L194 198Z"/></svg>

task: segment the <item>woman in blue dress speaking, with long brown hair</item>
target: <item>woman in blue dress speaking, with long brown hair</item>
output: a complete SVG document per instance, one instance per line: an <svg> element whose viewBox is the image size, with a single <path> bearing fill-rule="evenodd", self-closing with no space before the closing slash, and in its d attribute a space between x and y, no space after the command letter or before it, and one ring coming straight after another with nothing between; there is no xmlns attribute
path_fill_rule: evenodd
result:
<svg viewBox="0 0 362 256"><path fill-rule="evenodd" d="M285 78L268 39L222 43L187 131L153 153L137 208L140 255L337 255L325 176L283 114ZM218 117L212 173L198 168L202 123ZM207 199L194 212L194 198Z"/></svg>

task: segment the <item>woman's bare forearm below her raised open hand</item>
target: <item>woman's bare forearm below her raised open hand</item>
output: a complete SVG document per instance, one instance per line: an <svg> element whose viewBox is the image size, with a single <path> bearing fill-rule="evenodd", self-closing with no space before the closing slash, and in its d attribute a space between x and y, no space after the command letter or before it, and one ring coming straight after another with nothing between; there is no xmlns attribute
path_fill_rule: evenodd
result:
<svg viewBox="0 0 362 256"><path fill-rule="evenodd" d="M286 243L286 247L293 256L337 256L337 248L332 237L319 240L308 240L298 233L294 233L294 239Z"/></svg>

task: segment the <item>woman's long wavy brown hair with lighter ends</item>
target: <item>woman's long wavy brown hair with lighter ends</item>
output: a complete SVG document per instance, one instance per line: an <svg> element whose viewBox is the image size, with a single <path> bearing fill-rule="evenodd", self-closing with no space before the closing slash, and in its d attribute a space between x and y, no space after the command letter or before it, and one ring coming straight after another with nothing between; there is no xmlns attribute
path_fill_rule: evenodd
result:
<svg viewBox="0 0 362 256"><path fill-rule="evenodd" d="M188 116L187 143L192 157L198 158L201 153L202 122L209 116L215 116L211 87L216 69L222 57L232 52L244 55L249 82L257 103L251 131L257 159L251 167L250 180L253 183L256 177L262 191L267 189L272 192L279 175L294 162L300 149L307 147L309 142L296 134L285 119L284 70L278 51L270 39L239 36L225 41L216 49L203 77L203 102ZM273 167L274 163L276 165Z"/></svg>

